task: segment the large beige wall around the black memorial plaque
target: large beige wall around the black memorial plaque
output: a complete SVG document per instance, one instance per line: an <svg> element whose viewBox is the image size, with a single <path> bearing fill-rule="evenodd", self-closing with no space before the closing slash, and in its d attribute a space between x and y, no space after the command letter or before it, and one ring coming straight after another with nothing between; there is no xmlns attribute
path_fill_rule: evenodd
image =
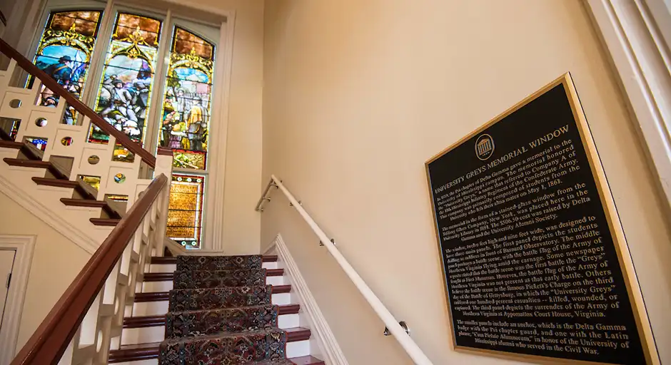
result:
<svg viewBox="0 0 671 365"><path fill-rule="evenodd" d="M578 0L266 2L263 181L283 179L435 364L455 353L424 162L570 71L657 344L671 344L671 245L657 185ZM410 364L278 193L282 232L350 364ZM660 346L662 361L671 348ZM384 359L383 359L384 358Z"/></svg>

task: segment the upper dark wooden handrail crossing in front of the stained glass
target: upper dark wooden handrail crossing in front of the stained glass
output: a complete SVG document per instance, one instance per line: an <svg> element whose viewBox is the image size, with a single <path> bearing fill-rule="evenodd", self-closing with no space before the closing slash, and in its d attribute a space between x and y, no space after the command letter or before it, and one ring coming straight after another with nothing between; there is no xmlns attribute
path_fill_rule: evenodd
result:
<svg viewBox="0 0 671 365"><path fill-rule="evenodd" d="M9 46L9 44L7 44L2 38L0 38L0 52L4 53L9 58L14 59L14 61L16 61L16 63L18 63L19 66L27 73L30 73L36 78L39 78L39 80L44 83L46 88L54 91L54 93L58 94L61 98L64 98L73 108L75 108L75 110L79 111L79 113L89 117L89 119L91 119L91 123L94 123L105 133L116 138L116 143L123 145L123 147L127 148L132 153L140 156L140 158L151 168L156 166L156 158L148 150L142 148L142 145L133 142L131 138L128 138L128 135L107 123L103 118L101 118L100 115L98 115L98 113L89 108L89 106L86 106L86 104L79 101L78 98L75 98L71 93L69 93L69 91L66 91L66 89L63 88L63 86L61 86L56 80L54 80L54 78L51 78L51 76L40 70L39 67L35 66L34 63L32 63L28 58L24 57L24 55L19 53L19 51L16 51L16 49Z"/></svg>

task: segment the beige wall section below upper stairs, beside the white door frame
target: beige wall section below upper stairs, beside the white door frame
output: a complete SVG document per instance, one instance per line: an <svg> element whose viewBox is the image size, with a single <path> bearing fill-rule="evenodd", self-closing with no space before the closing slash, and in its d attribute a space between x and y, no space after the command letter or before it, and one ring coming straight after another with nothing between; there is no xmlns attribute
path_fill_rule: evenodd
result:
<svg viewBox="0 0 671 365"><path fill-rule="evenodd" d="M30 338L91 255L21 205L0 193L0 235L35 235L17 351ZM11 214L7 214L11 212Z"/></svg>

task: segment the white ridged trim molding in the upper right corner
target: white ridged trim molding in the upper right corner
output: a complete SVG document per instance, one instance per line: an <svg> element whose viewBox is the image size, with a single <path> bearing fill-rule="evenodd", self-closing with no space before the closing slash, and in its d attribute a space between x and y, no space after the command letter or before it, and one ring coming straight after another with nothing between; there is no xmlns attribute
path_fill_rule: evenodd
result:
<svg viewBox="0 0 671 365"><path fill-rule="evenodd" d="M671 14L664 0L584 0L671 202ZM655 9L653 14L650 9Z"/></svg>

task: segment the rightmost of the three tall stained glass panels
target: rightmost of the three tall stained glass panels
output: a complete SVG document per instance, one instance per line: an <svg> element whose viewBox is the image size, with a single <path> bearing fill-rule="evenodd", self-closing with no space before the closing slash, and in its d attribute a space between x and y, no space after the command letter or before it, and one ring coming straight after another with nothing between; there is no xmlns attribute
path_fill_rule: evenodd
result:
<svg viewBox="0 0 671 365"><path fill-rule="evenodd" d="M213 61L212 43L175 27L158 143L176 168L206 168Z"/></svg>

